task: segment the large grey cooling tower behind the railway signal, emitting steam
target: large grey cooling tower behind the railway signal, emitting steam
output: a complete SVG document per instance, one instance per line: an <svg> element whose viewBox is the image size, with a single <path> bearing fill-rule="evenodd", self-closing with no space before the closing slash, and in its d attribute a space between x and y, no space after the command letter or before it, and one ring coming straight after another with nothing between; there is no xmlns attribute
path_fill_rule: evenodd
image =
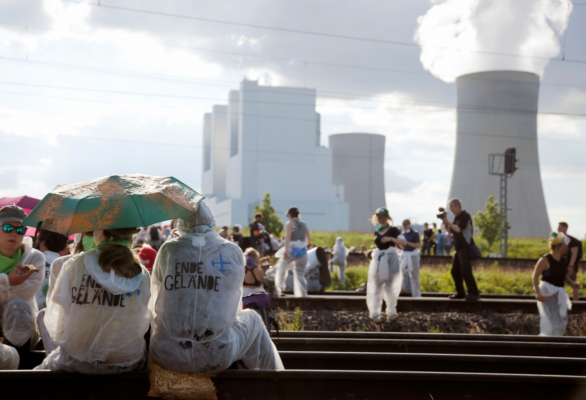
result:
<svg viewBox="0 0 586 400"><path fill-rule="evenodd" d="M471 215L484 210L500 179L489 175L491 153L517 149L517 170L507 184L509 237L550 233L537 154L539 77L520 71L488 71L456 78L458 120L454 173L449 197L462 200Z"/></svg>

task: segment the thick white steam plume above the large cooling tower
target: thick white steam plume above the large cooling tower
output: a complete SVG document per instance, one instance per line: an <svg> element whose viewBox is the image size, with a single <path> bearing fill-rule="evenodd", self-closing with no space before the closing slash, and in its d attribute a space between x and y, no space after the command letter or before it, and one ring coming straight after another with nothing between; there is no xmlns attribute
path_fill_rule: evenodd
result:
<svg viewBox="0 0 586 400"><path fill-rule="evenodd" d="M490 70L543 76L572 8L567 0L445 0L417 19L421 64L445 82Z"/></svg>

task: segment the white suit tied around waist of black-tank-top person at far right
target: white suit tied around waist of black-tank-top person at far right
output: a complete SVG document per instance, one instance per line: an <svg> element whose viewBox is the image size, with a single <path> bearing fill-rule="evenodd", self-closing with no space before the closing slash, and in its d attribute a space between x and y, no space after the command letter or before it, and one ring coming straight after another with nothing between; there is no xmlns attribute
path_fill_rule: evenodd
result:
<svg viewBox="0 0 586 400"><path fill-rule="evenodd" d="M563 286L539 282L539 291L545 301L537 301L539 310L539 336L564 336L568 326L568 310L572 309L570 296Z"/></svg>

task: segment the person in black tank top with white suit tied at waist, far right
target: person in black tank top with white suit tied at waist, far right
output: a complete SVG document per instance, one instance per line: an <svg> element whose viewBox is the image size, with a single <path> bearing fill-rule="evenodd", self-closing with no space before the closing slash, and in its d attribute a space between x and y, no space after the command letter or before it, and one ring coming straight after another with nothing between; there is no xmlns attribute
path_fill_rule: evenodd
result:
<svg viewBox="0 0 586 400"><path fill-rule="evenodd" d="M572 308L564 285L567 283L575 290L580 289L580 283L574 282L568 274L568 244L570 238L566 235L552 233L548 241L549 253L537 261L533 271L540 336L563 336L568 325L568 310Z"/></svg>

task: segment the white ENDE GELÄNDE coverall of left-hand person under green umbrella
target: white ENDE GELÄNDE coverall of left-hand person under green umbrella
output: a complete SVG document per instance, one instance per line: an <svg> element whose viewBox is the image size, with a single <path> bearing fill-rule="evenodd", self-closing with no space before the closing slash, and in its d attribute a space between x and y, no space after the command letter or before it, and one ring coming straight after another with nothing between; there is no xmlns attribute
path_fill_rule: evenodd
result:
<svg viewBox="0 0 586 400"><path fill-rule="evenodd" d="M120 374L144 365L152 316L149 272L144 266L134 278L104 272L100 252L93 248L63 264L44 319L59 347L36 370Z"/></svg>

